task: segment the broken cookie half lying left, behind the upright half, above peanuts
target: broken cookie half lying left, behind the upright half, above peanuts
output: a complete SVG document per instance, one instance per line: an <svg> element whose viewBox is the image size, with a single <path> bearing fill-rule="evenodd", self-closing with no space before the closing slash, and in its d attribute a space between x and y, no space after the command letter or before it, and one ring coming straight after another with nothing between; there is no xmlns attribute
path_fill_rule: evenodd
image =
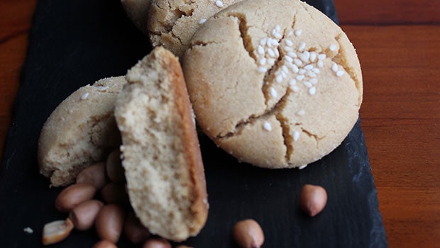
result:
<svg viewBox="0 0 440 248"><path fill-rule="evenodd" d="M50 114L37 156L40 173L53 186L73 183L79 171L104 161L107 152L119 147L121 135L113 112L123 84L124 77L110 77L83 86Z"/></svg>

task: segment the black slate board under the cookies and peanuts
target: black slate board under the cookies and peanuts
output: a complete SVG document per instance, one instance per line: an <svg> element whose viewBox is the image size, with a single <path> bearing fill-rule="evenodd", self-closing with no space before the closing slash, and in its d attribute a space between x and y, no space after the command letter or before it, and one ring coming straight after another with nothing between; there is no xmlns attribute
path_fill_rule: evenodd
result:
<svg viewBox="0 0 440 248"><path fill-rule="evenodd" d="M307 2L337 23L331 0ZM65 218L53 205L60 188L49 188L38 174L46 118L79 86L125 74L150 49L118 0L38 2L0 170L0 247L40 247L43 225ZM202 232L185 244L233 247L233 224L254 218L265 232L264 247L387 247L359 121L340 147L302 171L239 164L206 137L200 143L211 208ZM326 208L314 218L298 207L303 184L328 192ZM53 247L92 247L97 240L93 231L74 231ZM123 238L119 247L130 244Z"/></svg>

